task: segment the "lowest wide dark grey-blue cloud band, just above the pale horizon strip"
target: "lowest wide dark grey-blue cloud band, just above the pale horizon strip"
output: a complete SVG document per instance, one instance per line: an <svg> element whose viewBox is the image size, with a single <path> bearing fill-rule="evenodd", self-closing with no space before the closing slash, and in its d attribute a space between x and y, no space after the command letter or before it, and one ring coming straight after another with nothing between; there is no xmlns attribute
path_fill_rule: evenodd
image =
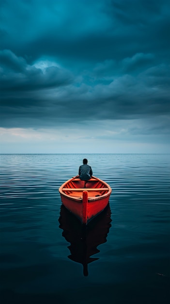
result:
<svg viewBox="0 0 170 304"><path fill-rule="evenodd" d="M168 68L162 66L137 78L126 74L108 85L71 84L36 91L33 86L32 90L17 90L17 94L11 89L4 98L2 95L2 114L7 123L3 126L42 127L69 121L167 116L169 87Z"/></svg>

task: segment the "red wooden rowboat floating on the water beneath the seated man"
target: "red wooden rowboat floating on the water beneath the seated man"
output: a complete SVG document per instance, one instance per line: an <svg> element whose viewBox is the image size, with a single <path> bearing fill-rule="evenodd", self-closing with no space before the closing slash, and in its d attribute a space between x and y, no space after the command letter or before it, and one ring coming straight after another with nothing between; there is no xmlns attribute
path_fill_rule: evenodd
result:
<svg viewBox="0 0 170 304"><path fill-rule="evenodd" d="M75 176L62 184L59 192L63 205L82 224L87 224L107 206L111 187L95 176L89 181L81 181Z"/></svg>

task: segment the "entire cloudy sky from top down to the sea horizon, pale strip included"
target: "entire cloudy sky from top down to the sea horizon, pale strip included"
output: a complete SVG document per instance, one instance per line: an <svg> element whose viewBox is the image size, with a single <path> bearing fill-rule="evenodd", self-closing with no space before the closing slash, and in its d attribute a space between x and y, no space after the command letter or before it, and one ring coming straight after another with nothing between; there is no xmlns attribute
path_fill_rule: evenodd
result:
<svg viewBox="0 0 170 304"><path fill-rule="evenodd" d="M169 0L0 0L1 153L170 152Z"/></svg>

